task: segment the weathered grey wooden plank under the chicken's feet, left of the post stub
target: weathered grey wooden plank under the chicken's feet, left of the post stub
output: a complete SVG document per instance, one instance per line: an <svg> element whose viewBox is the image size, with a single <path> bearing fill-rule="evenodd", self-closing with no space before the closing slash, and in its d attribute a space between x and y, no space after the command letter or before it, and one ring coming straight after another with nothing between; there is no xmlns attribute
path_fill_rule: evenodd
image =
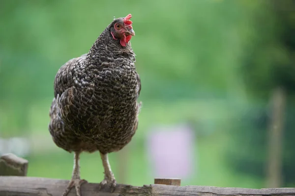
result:
<svg viewBox="0 0 295 196"><path fill-rule="evenodd" d="M0 196L61 196L68 180L0 176ZM151 187L134 187L119 184L114 193L99 191L99 184L85 183L81 186L82 196L150 196ZM72 189L68 196L76 196Z"/></svg>

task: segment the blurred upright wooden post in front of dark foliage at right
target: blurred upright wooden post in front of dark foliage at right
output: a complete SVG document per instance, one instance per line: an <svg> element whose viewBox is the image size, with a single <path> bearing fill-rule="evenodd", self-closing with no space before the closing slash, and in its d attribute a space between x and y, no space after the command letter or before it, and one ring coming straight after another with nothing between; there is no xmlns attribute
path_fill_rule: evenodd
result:
<svg viewBox="0 0 295 196"><path fill-rule="evenodd" d="M268 131L268 160L266 187L279 188L282 185L282 140L284 129L284 113L286 92L281 87L273 90L272 117Z"/></svg>

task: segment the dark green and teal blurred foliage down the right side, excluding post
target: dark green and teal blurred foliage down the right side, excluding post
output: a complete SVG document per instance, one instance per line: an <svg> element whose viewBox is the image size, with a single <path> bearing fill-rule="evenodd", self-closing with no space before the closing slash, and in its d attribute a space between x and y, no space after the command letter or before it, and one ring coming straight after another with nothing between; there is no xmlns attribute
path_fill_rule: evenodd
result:
<svg viewBox="0 0 295 196"><path fill-rule="evenodd" d="M281 87L287 92L284 112L282 170L285 186L294 183L294 116L295 116L295 1L264 1L253 15L253 34L249 36L242 56L241 76L249 97L248 108L237 110L243 119L231 129L233 140L229 160L236 171L260 178L266 175L267 132L270 124L271 93ZM247 108L244 105L244 108ZM232 148L232 146L240 146Z"/></svg>

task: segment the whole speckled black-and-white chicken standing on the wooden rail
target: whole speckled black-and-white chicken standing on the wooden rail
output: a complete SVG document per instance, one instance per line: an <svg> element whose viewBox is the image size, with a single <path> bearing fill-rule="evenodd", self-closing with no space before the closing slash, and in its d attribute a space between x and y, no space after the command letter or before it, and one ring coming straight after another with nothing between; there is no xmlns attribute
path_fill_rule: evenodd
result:
<svg viewBox="0 0 295 196"><path fill-rule="evenodd" d="M114 19L87 54L73 58L59 69L54 80L49 131L58 147L74 152L72 187L81 196L79 155L100 152L104 179L100 187L116 188L108 153L127 145L138 125L141 81L135 69L130 39L135 35L130 21Z"/></svg>

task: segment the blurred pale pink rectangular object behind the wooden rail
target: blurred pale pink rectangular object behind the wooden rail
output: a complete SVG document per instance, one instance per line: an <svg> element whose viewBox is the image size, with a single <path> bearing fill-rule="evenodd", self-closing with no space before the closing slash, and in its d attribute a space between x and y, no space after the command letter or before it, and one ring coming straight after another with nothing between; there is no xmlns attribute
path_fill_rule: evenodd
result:
<svg viewBox="0 0 295 196"><path fill-rule="evenodd" d="M194 169L194 134L188 125L157 126L148 135L154 177L188 178Z"/></svg>

